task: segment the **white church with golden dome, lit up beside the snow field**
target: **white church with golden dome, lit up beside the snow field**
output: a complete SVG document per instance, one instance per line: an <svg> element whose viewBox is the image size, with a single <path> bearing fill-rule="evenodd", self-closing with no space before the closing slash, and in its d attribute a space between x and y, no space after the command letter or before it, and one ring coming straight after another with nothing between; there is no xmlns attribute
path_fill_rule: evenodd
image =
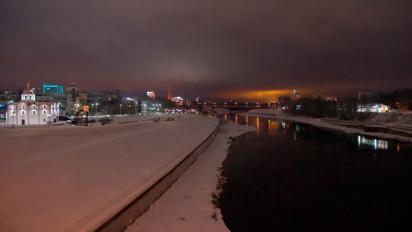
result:
<svg viewBox="0 0 412 232"><path fill-rule="evenodd" d="M36 94L27 83L21 101L8 106L5 119L10 125L44 125L57 121L58 108L54 102L36 102Z"/></svg>

